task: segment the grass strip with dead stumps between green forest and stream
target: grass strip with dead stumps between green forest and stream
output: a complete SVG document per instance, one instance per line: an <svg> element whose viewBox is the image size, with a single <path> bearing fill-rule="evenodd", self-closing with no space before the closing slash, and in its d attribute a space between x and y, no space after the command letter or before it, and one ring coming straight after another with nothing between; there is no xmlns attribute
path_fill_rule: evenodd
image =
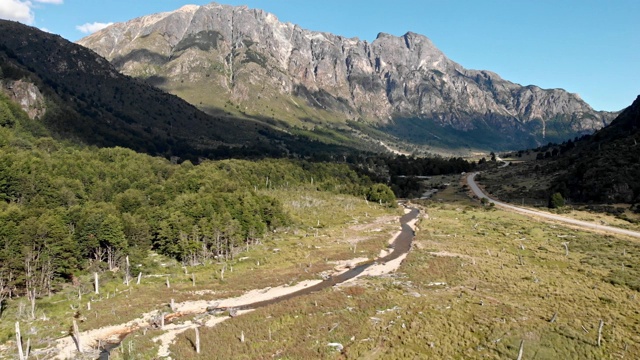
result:
<svg viewBox="0 0 640 360"><path fill-rule="evenodd" d="M0 347L0 357L14 355L15 321L21 323L23 338L31 338L34 349L43 349L52 339L68 336L73 318L83 331L125 323L153 310L170 312L171 299L182 302L226 298L251 289L318 279L321 272L333 268L330 261L375 257L386 246L390 233L398 228L394 217L399 215L399 210L363 199L303 189L264 191L281 199L294 225L268 235L226 264L182 267L163 256L153 255L145 267L155 271L144 274L141 285L135 285L134 279L127 287L121 272L105 272L100 275L100 294L96 295L92 274L80 276L77 285L68 285L51 297L38 299L35 320L30 317L26 299L11 299L6 302L0 322L0 344L7 345L7 348ZM377 222L380 218L384 221ZM355 247L354 240L357 241ZM227 271L222 279L220 270L224 266ZM196 278L195 286L192 274ZM133 275L137 275L135 270ZM167 278L170 288L166 287ZM82 299L78 298L79 290ZM91 310L87 310L89 301ZM153 353L151 335L132 336L140 354ZM128 346L125 343L123 349L128 350Z"/></svg>

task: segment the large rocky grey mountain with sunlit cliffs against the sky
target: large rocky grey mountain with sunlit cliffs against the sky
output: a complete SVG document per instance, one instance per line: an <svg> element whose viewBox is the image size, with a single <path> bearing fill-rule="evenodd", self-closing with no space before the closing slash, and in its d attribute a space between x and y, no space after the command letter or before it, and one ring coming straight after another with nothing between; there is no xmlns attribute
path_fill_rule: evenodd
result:
<svg viewBox="0 0 640 360"><path fill-rule="evenodd" d="M465 69L419 34L379 34L369 43L245 6L188 5L78 43L212 114L260 115L300 128L355 123L421 145L537 146L591 133L613 118L561 89Z"/></svg>

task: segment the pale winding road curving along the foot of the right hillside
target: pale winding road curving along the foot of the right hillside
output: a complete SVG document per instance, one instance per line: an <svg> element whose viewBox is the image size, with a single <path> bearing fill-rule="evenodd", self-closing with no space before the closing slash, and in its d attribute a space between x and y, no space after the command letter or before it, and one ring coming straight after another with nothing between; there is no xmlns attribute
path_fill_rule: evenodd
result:
<svg viewBox="0 0 640 360"><path fill-rule="evenodd" d="M469 184L469 187L471 188L471 191L473 191L473 193L477 197L479 197L480 199L485 198L489 202L494 203L494 204L496 204L496 206L499 206L499 207L501 207L503 209L507 209L507 210L510 210L510 211L515 211L517 213L524 214L524 215L542 217L542 218L549 219L549 220L555 220L555 221L564 222L564 223L567 223L567 224L578 226L578 227L583 228L585 230L605 231L605 232L609 232L609 233L629 235L629 236L640 238L640 232L637 232L637 231L621 229L621 228L617 228L617 227L613 227L613 226L598 225L598 224L594 224L594 223L587 222L587 221L581 221L581 220L571 219L571 218L560 216L560 215L556 215L556 214L550 214L550 213L547 213L547 212L544 212L544 211L536 211L536 210L525 209L525 208L521 208L521 207L518 207L518 206L514 206L514 205L510 205L510 204L504 203L502 201L498 201L498 200L492 199L489 196L487 196L482 191L482 189L480 189L478 184L476 183L475 177L476 177L477 174L478 174L478 172L474 172L474 173L471 173L471 174L467 175L467 184Z"/></svg>

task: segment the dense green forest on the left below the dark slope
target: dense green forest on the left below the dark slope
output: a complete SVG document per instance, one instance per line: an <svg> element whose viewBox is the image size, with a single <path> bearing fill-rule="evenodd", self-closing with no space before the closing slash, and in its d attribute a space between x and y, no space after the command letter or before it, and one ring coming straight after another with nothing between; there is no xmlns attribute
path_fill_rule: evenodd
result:
<svg viewBox="0 0 640 360"><path fill-rule="evenodd" d="M178 165L0 127L0 291L54 292L89 270L122 270L126 256L142 262L149 250L186 264L230 258L290 224L281 201L262 191L273 188L395 200L345 164Z"/></svg>

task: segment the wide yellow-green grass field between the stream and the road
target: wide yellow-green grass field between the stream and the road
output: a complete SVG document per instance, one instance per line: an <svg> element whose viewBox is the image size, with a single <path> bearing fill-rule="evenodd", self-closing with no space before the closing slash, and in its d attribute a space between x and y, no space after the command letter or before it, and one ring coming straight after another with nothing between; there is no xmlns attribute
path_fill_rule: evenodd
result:
<svg viewBox="0 0 640 360"><path fill-rule="evenodd" d="M450 187L441 196L456 192ZM503 359L516 358L522 340L528 359L640 357L637 240L469 200L429 202L426 211L398 273L202 328L199 356L193 332L184 333L174 357ZM344 350L327 345L333 342Z"/></svg>

